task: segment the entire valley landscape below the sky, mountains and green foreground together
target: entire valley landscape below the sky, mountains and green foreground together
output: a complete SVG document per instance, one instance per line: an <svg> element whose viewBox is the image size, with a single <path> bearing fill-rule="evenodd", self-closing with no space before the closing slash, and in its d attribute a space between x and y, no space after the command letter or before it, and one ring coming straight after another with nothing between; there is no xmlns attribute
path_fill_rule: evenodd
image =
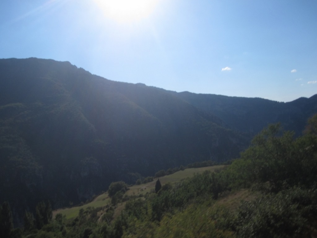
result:
<svg viewBox="0 0 317 238"><path fill-rule="evenodd" d="M12 232L260 237L276 216L266 237L315 234L316 95L172 92L38 58L0 59L0 75L0 204ZM134 185L109 197L116 181Z"/></svg>

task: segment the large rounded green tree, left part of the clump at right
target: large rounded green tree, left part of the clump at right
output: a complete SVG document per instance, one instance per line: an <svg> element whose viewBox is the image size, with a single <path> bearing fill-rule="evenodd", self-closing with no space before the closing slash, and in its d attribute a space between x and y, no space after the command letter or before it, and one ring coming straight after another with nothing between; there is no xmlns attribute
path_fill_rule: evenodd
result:
<svg viewBox="0 0 317 238"><path fill-rule="evenodd" d="M247 174L245 179L249 181L269 182L271 188L278 191L285 179L296 177L298 161L293 159L293 136L293 132L282 131L280 124L269 125L253 138L252 146L241 153L244 169L236 172Z"/></svg>

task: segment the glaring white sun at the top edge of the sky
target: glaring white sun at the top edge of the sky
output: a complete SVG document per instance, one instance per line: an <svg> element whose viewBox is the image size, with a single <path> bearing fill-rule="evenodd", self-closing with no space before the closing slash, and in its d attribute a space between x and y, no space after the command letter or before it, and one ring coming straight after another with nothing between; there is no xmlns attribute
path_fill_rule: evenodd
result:
<svg viewBox="0 0 317 238"><path fill-rule="evenodd" d="M127 23L149 17L159 0L94 0L106 17Z"/></svg>

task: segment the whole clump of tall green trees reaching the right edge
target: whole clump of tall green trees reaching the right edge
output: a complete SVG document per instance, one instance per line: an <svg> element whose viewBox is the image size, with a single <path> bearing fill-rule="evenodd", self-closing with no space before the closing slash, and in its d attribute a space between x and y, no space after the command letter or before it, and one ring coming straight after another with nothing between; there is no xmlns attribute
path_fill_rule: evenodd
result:
<svg viewBox="0 0 317 238"><path fill-rule="evenodd" d="M317 119L308 121L306 134L294 139L280 124L269 125L254 137L252 145L241 153L226 171L231 187L249 187L265 183L265 189L278 192L295 185L314 184L317 178ZM260 186L261 187L261 186ZM264 188L264 187L263 187Z"/></svg>

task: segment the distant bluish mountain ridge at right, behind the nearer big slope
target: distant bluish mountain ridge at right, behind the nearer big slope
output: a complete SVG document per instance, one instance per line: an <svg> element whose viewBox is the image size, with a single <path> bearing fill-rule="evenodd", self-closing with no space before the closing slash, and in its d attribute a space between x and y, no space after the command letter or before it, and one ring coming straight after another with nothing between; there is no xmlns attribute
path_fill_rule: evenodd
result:
<svg viewBox="0 0 317 238"><path fill-rule="evenodd" d="M307 118L317 112L317 96L293 102L275 102L262 98L229 97L190 92L173 93L186 102L212 113L231 129L254 135L271 123L281 122L287 130L301 135Z"/></svg>

